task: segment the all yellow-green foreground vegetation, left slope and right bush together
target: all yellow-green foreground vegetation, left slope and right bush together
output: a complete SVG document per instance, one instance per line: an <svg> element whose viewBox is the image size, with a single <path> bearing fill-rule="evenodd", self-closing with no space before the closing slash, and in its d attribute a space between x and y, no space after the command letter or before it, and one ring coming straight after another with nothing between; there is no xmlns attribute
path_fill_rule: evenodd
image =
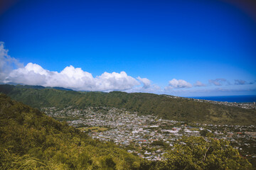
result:
<svg viewBox="0 0 256 170"><path fill-rule="evenodd" d="M223 140L184 137L148 162L0 94L0 169L252 169Z"/></svg>

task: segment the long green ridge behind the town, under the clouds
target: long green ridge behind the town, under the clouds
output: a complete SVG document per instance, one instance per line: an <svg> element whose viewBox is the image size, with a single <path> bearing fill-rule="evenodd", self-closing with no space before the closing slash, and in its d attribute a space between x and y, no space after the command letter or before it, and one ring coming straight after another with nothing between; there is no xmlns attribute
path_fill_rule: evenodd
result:
<svg viewBox="0 0 256 170"><path fill-rule="evenodd" d="M167 95L132 93L120 91L110 93L63 91L30 86L0 85L0 92L36 108L77 106L107 106L127 108L140 115L157 115L169 120L182 120L188 123L210 123L230 125L255 125L256 111L253 109L223 106L174 98Z"/></svg>

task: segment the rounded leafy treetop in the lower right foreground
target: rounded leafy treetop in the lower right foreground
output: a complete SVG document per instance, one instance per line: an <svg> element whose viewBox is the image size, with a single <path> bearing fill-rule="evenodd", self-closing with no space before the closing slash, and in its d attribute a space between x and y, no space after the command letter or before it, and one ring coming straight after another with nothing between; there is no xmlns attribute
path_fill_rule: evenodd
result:
<svg viewBox="0 0 256 170"><path fill-rule="evenodd" d="M165 154L166 159L159 162L156 169L252 169L228 141L210 139L207 142L203 137L183 137L181 142Z"/></svg>

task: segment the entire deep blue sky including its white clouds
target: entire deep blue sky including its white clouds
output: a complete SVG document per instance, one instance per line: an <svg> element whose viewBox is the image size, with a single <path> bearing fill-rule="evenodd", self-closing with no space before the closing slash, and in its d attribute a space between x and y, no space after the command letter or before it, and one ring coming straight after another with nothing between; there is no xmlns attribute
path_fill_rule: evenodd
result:
<svg viewBox="0 0 256 170"><path fill-rule="evenodd" d="M0 8L2 83L256 94L252 1L12 1Z"/></svg>

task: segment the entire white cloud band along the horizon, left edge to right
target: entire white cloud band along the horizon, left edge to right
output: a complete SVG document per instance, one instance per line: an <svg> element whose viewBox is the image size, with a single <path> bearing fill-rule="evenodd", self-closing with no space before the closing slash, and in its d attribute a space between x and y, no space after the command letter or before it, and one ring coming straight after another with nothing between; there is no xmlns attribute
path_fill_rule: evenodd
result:
<svg viewBox="0 0 256 170"><path fill-rule="evenodd" d="M81 68L75 68L72 65L65 67L60 72L52 72L31 62L24 67L18 60L8 55L8 50L4 49L4 42L0 42L0 84L60 86L76 91L126 91L177 96L181 94L188 96L188 94L206 93L205 95L207 95L215 94L216 91L223 92L223 89L213 89L213 86L209 85L218 87L228 85L225 88L231 89L235 93L246 91L248 88L251 89L250 91L256 91L256 81L235 79L233 84L230 84L226 79L209 79L208 81L209 84L207 85L201 81L196 81L192 86L192 84L183 79L171 79L168 86L162 89L160 86L152 84L147 78L134 78L127 75L126 72L104 72L100 76L93 77L90 72L85 72ZM235 86L243 84L245 85Z"/></svg>

